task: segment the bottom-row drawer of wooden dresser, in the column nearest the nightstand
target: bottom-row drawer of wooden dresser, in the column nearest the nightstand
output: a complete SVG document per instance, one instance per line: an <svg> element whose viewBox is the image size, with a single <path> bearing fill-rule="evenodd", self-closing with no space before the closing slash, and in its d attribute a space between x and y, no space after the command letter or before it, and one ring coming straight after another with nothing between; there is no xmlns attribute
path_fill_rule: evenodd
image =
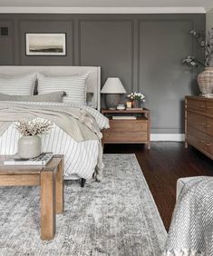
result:
<svg viewBox="0 0 213 256"><path fill-rule="evenodd" d="M206 150L206 134L190 126L188 127L187 142L202 150Z"/></svg>

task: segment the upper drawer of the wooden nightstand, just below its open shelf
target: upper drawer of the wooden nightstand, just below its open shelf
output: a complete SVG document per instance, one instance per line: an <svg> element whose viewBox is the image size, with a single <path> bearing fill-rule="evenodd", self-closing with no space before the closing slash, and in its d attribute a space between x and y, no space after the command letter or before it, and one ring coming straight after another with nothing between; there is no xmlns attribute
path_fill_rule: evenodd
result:
<svg viewBox="0 0 213 256"><path fill-rule="evenodd" d="M141 120L110 120L111 128L108 131L113 132L147 132L148 122Z"/></svg>

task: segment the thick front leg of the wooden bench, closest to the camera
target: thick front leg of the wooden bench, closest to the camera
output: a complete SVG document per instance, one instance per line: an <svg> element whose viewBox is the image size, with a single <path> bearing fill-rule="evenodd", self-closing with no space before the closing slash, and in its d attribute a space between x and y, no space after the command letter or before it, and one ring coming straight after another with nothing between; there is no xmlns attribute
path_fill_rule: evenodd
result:
<svg viewBox="0 0 213 256"><path fill-rule="evenodd" d="M52 240L55 234L55 174L41 172L41 239Z"/></svg>

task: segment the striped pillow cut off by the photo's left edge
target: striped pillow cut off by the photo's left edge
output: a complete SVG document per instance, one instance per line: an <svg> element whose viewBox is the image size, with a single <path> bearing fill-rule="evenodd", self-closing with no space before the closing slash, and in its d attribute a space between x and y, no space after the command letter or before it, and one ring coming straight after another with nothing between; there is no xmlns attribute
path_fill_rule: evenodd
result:
<svg viewBox="0 0 213 256"><path fill-rule="evenodd" d="M36 73L17 76L0 74L0 93L9 95L34 95Z"/></svg>

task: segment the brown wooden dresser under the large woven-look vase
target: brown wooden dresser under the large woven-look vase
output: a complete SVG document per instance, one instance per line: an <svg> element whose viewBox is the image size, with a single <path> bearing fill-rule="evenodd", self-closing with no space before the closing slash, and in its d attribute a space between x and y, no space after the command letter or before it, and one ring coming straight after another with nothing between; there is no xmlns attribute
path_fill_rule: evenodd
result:
<svg viewBox="0 0 213 256"><path fill-rule="evenodd" d="M196 147L213 159L213 99L185 98L185 146Z"/></svg>

